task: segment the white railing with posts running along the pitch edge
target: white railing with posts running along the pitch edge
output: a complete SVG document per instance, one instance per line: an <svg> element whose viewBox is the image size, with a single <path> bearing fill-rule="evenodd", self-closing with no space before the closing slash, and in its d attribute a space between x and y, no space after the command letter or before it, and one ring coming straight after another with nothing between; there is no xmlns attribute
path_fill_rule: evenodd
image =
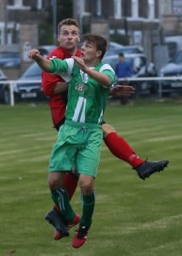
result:
<svg viewBox="0 0 182 256"><path fill-rule="evenodd" d="M128 79L118 79L119 82L126 82L128 84L129 82L158 82L158 96L162 96L162 81L179 81L181 82L181 90L182 90L182 76L173 76L173 77L145 77L145 78L128 78ZM41 80L7 80L7 81L0 81L0 86L2 84L7 84L9 86L9 95L10 95L10 106L14 106L14 84L35 84L40 83ZM136 84L137 85L137 84Z"/></svg>

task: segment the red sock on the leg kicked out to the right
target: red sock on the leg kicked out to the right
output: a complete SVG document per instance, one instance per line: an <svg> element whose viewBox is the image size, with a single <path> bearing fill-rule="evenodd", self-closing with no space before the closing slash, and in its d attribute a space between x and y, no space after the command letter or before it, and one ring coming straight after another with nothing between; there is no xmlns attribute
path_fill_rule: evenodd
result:
<svg viewBox="0 0 182 256"><path fill-rule="evenodd" d="M117 158L128 162L130 166L136 168L145 160L139 158L139 156L134 153L133 148L129 144L117 135L117 132L111 132L105 137L105 144L107 148L110 149L111 153L114 154Z"/></svg>

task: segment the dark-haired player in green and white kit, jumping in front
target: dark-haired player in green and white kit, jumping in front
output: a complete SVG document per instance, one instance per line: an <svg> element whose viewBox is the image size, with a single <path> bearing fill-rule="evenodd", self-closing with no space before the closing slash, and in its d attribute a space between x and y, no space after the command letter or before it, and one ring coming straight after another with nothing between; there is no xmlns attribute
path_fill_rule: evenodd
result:
<svg viewBox="0 0 182 256"><path fill-rule="evenodd" d="M88 236L94 213L94 180L100 161L103 139L101 122L105 102L115 80L110 65L102 63L106 51L105 38L88 34L82 44L82 57L49 61L37 49L29 57L45 72L58 73L69 82L65 124L60 127L57 143L50 157L48 184L54 203L60 207L65 220L71 224L77 214L73 211L67 190L62 186L65 172L76 166L82 194L82 217L72 247L82 247Z"/></svg>

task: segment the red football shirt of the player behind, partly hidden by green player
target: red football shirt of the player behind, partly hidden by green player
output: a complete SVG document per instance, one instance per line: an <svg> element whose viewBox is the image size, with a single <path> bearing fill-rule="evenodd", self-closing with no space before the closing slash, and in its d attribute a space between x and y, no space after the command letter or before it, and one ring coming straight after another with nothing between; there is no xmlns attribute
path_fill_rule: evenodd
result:
<svg viewBox="0 0 182 256"><path fill-rule="evenodd" d="M81 55L81 50L77 49L77 56ZM70 58L71 53L64 49L63 47L57 47L49 55L48 58L56 57L58 59L64 60L65 58ZM60 122L65 119L65 108L67 104L67 91L59 94L54 94L54 87L58 82L64 82L57 74L51 74L43 72L42 74L42 88L45 95L49 96L49 108L51 109L52 119L54 125L60 124Z"/></svg>

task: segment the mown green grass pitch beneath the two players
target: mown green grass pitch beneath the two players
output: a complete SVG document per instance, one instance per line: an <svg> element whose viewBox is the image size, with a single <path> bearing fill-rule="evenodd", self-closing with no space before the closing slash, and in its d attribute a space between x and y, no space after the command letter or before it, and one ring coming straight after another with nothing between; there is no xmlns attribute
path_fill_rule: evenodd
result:
<svg viewBox="0 0 182 256"><path fill-rule="evenodd" d="M56 138L46 105L0 106L0 255L182 255L182 105L145 102L108 106L105 120L140 157L170 160L164 172L142 181L103 143L96 206L87 243L54 241L44 215L48 156ZM72 201L81 212L79 189Z"/></svg>

